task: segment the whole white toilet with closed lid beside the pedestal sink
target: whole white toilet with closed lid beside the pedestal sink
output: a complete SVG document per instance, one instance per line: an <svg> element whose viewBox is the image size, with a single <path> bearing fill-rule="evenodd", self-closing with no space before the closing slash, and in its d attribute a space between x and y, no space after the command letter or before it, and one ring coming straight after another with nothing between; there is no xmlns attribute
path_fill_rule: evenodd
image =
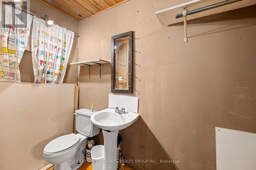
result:
<svg viewBox="0 0 256 170"><path fill-rule="evenodd" d="M85 159L87 138L99 134L99 128L91 122L92 111L75 111L77 134L71 133L50 141L44 149L45 159L54 164L55 170L78 169Z"/></svg>

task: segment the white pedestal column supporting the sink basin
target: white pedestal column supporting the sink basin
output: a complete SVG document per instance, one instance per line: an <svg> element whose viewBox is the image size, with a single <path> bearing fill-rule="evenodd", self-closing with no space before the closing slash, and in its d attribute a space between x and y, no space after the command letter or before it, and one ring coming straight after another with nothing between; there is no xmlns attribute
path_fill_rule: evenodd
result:
<svg viewBox="0 0 256 170"><path fill-rule="evenodd" d="M117 135L118 131L107 132L102 130L104 137L103 170L117 169Z"/></svg>

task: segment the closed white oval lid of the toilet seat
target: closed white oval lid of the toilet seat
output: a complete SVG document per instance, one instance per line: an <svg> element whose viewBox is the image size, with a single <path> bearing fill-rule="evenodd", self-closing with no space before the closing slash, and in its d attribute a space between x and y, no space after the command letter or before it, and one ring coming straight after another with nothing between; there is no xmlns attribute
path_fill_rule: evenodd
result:
<svg viewBox="0 0 256 170"><path fill-rule="evenodd" d="M79 140L79 136L74 133L57 137L46 145L45 152L56 153L67 150L76 145Z"/></svg>

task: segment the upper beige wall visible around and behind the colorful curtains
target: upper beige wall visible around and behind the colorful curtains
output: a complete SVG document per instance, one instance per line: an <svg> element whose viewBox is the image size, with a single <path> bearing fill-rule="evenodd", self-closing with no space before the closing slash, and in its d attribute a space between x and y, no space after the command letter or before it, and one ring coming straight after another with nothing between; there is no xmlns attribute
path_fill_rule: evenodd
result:
<svg viewBox="0 0 256 170"><path fill-rule="evenodd" d="M78 21L63 15L48 6L38 2L37 0L31 0L29 8L36 12L38 16L48 15L53 19L54 23L65 27L75 33L78 32ZM33 66L31 59L31 42L28 42L27 51L25 51L22 61L20 62L20 75L22 82L34 82ZM64 83L77 83L78 82L78 67L75 65L69 65L71 62L78 61L78 37L74 37L72 51L70 54L66 75L63 80Z"/></svg>

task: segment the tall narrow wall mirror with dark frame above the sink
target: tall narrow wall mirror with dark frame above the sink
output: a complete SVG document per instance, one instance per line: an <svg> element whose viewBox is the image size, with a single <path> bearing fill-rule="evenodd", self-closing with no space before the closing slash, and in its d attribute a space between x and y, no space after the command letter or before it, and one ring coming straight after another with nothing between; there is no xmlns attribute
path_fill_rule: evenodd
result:
<svg viewBox="0 0 256 170"><path fill-rule="evenodd" d="M111 91L133 92L133 32L112 36Z"/></svg>

